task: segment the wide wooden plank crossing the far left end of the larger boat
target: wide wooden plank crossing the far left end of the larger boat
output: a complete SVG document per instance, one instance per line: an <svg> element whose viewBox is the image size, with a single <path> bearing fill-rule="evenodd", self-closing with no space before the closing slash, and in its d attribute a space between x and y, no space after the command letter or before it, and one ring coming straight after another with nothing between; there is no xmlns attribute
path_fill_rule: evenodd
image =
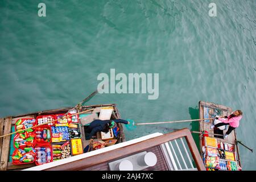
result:
<svg viewBox="0 0 256 182"><path fill-rule="evenodd" d="M5 118L5 129L3 134L9 134L11 132L11 117ZM3 137L3 144L2 144L2 154L1 154L1 164L0 164L0 171L6 171L8 158L9 158L9 148L10 148L10 139L11 136Z"/></svg>

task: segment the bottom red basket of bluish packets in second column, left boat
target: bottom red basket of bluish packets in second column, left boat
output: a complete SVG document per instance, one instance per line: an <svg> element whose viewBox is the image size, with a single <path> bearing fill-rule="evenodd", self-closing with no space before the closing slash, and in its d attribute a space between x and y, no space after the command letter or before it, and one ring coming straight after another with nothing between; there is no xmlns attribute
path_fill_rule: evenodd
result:
<svg viewBox="0 0 256 182"><path fill-rule="evenodd" d="M40 148L40 150L39 150L39 148ZM45 148L45 150L43 150L43 148ZM50 155L51 160L47 160L47 156L48 156L47 155L47 148L49 148L49 151L51 152L51 155ZM35 160L36 166L52 162L52 158L53 158L52 157L52 146L50 144L38 144L38 145L36 145L35 150L36 150L36 160ZM45 157L44 157L44 155L42 155L42 152L46 153ZM40 157L39 155L42 156L42 157ZM45 159L46 163L40 163L39 161L42 162L42 159Z"/></svg>

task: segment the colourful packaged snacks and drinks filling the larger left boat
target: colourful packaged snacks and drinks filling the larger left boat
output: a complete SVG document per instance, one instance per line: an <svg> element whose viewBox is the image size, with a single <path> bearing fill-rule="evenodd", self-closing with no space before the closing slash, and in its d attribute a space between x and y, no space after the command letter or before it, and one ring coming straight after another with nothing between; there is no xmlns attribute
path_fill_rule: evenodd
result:
<svg viewBox="0 0 256 182"><path fill-rule="evenodd" d="M56 120L56 121L55 121ZM32 126L34 129L28 129ZM39 115L34 118L18 119L15 130L23 130L14 137L13 164L35 163L36 166L82 154L81 125L79 115L64 118L64 114ZM111 130L112 131L112 130ZM111 146L118 128L105 139L106 143L94 142L93 149Z"/></svg>

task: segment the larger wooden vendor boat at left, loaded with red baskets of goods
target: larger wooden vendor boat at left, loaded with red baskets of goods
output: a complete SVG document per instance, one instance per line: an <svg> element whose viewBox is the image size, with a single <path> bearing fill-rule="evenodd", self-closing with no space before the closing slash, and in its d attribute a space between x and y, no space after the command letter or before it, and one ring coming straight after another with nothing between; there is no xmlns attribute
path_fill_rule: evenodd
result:
<svg viewBox="0 0 256 182"><path fill-rule="evenodd" d="M70 111L69 118L61 117L68 111ZM76 115L82 112L84 114ZM31 168L54 162L54 159L64 160L84 153L86 146L86 152L89 153L94 147L107 148L125 142L121 123L117 123L108 134L98 132L93 140L85 139L85 128L94 119L119 118L120 114L115 104L80 106L76 109L65 107L0 118L0 136L22 129L23 126L20 124L23 123L26 123L24 130L33 126L33 123L41 124L33 130L30 129L31 131L25 130L0 138L0 171ZM42 125L44 122L51 122L50 119L58 120ZM34 154L36 155L33 156Z"/></svg>

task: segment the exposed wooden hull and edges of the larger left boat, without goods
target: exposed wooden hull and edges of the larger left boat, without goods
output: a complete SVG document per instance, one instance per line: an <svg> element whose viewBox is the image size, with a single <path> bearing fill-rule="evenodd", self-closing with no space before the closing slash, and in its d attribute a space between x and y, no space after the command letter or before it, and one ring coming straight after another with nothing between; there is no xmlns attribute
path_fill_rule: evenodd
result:
<svg viewBox="0 0 256 182"><path fill-rule="evenodd" d="M88 114L96 113L99 115L102 107L113 107L113 112L112 112L110 119L120 118L119 111L115 104L81 106L81 107L79 107L79 109L76 109L76 110L77 110L77 113L79 113L81 111L93 109L92 111L89 111ZM0 118L0 136L9 134L12 131L14 131L14 125L15 125L15 122L17 121L17 119L36 118L39 115L67 113L67 111L69 111L70 109L72 109L72 107L38 111L38 112L34 112L34 113L29 113L29 114L21 114L21 115L6 117L6 118ZM118 123L118 127L119 127L119 137L118 137L116 144L125 142L125 133L123 133L123 127L122 127L121 123ZM88 144L88 140L85 140L84 127L80 126L80 131L81 131L82 147L84 148L86 146L86 144ZM14 147L13 147L13 143L12 143L13 138L14 138L14 135L9 135L7 137L0 138L0 159L1 159L0 171L34 167L35 163L22 164L22 165L12 164L11 155L14 151Z"/></svg>

